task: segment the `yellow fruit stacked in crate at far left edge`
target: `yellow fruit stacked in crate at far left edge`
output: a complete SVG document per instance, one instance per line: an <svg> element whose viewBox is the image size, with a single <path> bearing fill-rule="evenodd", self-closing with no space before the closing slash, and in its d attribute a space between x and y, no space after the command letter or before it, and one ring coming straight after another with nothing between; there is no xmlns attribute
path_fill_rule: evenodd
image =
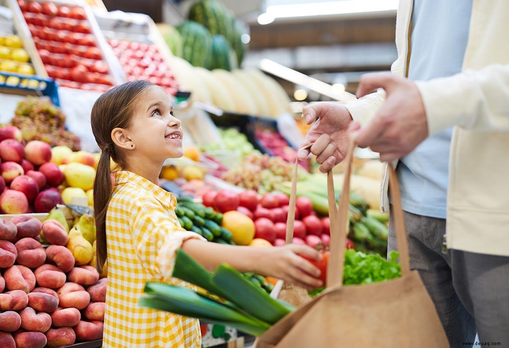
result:
<svg viewBox="0 0 509 348"><path fill-rule="evenodd" d="M34 75L30 55L17 35L0 36L0 71Z"/></svg>

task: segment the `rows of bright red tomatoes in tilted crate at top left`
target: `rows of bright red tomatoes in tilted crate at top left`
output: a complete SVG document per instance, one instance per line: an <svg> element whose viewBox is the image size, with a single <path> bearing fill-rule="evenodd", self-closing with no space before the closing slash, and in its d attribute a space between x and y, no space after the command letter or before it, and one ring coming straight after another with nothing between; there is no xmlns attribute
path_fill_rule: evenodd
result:
<svg viewBox="0 0 509 348"><path fill-rule="evenodd" d="M18 0L49 77L59 85L107 91L115 80L81 6Z"/></svg>

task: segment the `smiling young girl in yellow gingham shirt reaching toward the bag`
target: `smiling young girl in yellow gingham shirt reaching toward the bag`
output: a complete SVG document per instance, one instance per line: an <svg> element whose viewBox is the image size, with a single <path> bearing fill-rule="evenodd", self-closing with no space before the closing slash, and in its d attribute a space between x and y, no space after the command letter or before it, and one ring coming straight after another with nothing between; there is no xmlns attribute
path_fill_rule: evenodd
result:
<svg viewBox="0 0 509 348"><path fill-rule="evenodd" d="M312 248L208 243L179 225L176 198L157 185L164 160L183 153L180 121L161 88L134 81L104 93L92 109L92 130L102 150L94 183L97 266L101 271L107 259L108 267L103 347L201 346L197 320L137 305L147 281L194 288L171 277L178 248L209 270L228 263L307 288L322 285L320 271L297 255L319 259ZM120 167L113 188L110 157Z"/></svg>

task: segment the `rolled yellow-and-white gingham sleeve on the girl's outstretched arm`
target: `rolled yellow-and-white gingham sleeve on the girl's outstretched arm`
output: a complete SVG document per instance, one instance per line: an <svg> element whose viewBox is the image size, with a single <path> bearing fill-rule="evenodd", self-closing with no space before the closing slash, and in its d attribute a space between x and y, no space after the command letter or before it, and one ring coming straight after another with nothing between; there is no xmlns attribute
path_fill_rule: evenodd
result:
<svg viewBox="0 0 509 348"><path fill-rule="evenodd" d="M169 279L182 244L188 239L206 240L173 221L155 198L137 199L132 204L131 233L141 266L154 276Z"/></svg>

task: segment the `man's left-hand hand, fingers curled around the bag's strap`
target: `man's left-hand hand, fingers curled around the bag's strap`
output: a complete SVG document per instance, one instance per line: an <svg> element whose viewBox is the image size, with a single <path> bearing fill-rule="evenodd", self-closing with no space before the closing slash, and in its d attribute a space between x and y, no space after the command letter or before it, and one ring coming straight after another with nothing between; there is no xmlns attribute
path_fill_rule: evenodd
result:
<svg viewBox="0 0 509 348"><path fill-rule="evenodd" d="M343 106L334 103L316 103L302 109L306 123L313 127L307 132L302 146L313 143L306 150L299 151L299 160L305 160L309 152L317 156L321 164L320 171L327 172L343 161L348 151L348 126L352 122L350 112Z"/></svg>

